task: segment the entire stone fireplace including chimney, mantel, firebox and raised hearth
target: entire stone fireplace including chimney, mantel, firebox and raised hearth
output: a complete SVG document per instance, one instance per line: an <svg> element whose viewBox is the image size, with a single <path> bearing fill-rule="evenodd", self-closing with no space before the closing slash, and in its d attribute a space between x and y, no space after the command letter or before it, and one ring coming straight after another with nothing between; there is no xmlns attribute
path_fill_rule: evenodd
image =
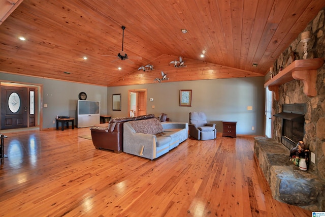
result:
<svg viewBox="0 0 325 217"><path fill-rule="evenodd" d="M294 63L288 60L324 59L325 57L325 13L324 9L306 26L303 32L310 33L307 43L308 54L304 55L304 44L300 34L297 39L283 51L273 63L274 75L288 72ZM311 64L310 66L312 66ZM283 69L284 72L280 72ZM304 71L304 69L298 69ZM272 138L257 138L255 153L259 164L269 181L272 196L283 202L309 206L310 210L325 210L325 67L320 65L314 69L312 76L301 76L305 72L295 74L294 79L276 83L273 89L272 101ZM293 73L294 75L294 73ZM274 77L275 77L274 76ZM289 75L291 76L291 74ZM292 78L290 77L290 78ZM309 79L314 81L309 85ZM266 75L268 83L270 75ZM274 83L272 83L274 85ZM283 118L287 105L304 105L304 111L295 114L296 117ZM288 114L284 114L288 115ZM298 117L300 115L300 117ZM294 121L296 118L304 120ZM291 120L290 120L291 119ZM310 162L307 171L301 171L289 162L288 149L295 146L297 141L304 141L310 150ZM282 144L281 144L282 143ZM271 145L270 145L271 144ZM308 187L305 184L308 183ZM299 191L297 187L300 186ZM306 190L306 191L305 191ZM308 190L308 191L307 191ZM304 192L305 191L305 192ZM300 196L293 193L302 193ZM296 196L296 197L295 197ZM308 201L294 201L295 198ZM304 204L305 203L305 204ZM313 205L311 205L313 204ZM311 206L310 206L311 205ZM306 207L307 208L307 207Z"/></svg>

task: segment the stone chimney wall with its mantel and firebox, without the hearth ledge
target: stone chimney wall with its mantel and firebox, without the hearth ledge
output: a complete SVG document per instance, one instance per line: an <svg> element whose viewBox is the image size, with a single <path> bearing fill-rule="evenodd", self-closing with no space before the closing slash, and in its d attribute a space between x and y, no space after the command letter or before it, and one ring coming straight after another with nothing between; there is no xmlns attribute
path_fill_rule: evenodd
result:
<svg viewBox="0 0 325 217"><path fill-rule="evenodd" d="M297 144L299 140L302 140L309 150L310 156L308 170L299 172L315 176L315 179L319 179L319 186L321 187L325 186L323 184L325 183L324 17L325 13L323 9L319 11L318 15L304 29L303 33L310 33L308 37L310 40L308 42L303 42L304 37L300 34L278 56L273 66L270 66L273 68L274 76L268 79L270 76L267 75L268 77L266 77L267 81L265 83L265 86L269 86L269 89L273 91L274 96L272 101L272 114L274 114L272 118L273 139L278 144L284 144L288 149ZM304 50L306 43L308 46L307 50L305 50L308 53ZM307 55L305 55L306 53ZM295 56L295 61L288 61L292 56ZM320 61L319 63L317 63L317 58ZM312 64L307 64L308 67L315 68L310 70L306 70L305 67L299 68L298 61L303 64L305 64L305 61L310 61ZM293 65L295 62L297 65ZM317 66L315 66L316 64ZM277 73L279 69L282 69L282 71ZM298 72L294 72L294 70ZM290 73L292 73L290 75L292 77L288 76L290 79L287 79L286 75ZM275 77L280 79L274 81ZM279 144L279 146L281 147L282 145ZM283 152L286 150L285 147L283 147ZM286 177L286 175L282 175L281 177ZM298 179L301 180L300 177ZM315 179L305 178L306 181L313 181ZM287 184L287 186L292 186L292 183ZM316 185L312 184L310 186L313 189ZM325 193L322 190L319 191L317 188L314 193L318 194L317 206L319 210L325 210ZM290 192L288 192L289 194ZM305 198L307 197L310 196L306 196ZM316 208L312 210L316 210Z"/></svg>

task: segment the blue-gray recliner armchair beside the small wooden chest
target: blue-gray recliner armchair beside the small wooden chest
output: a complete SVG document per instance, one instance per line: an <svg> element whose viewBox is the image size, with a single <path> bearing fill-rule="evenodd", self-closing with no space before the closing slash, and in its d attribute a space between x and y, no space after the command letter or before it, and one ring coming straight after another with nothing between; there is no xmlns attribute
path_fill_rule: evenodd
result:
<svg viewBox="0 0 325 217"><path fill-rule="evenodd" d="M215 123L208 123L204 112L194 111L189 113L189 135L198 140L217 138Z"/></svg>

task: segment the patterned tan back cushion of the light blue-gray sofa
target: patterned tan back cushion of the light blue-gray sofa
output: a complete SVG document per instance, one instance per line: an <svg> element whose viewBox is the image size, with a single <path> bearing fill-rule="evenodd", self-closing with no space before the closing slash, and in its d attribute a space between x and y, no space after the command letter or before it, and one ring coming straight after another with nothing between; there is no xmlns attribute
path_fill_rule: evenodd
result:
<svg viewBox="0 0 325 217"><path fill-rule="evenodd" d="M158 134L163 133L163 126L156 118L144 119L144 120L133 120L129 121L129 124L133 127L136 133L146 133L146 134Z"/></svg>

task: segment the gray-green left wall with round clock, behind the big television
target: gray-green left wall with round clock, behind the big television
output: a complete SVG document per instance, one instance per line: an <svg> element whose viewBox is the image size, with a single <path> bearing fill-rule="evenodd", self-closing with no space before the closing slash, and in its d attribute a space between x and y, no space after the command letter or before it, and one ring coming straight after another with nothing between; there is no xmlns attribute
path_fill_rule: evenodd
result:
<svg viewBox="0 0 325 217"><path fill-rule="evenodd" d="M107 113L107 87L80 84L45 78L28 77L0 72L1 81L43 84L43 129L54 128L56 115L76 117L79 92L87 94L87 100L101 101L101 113Z"/></svg>

